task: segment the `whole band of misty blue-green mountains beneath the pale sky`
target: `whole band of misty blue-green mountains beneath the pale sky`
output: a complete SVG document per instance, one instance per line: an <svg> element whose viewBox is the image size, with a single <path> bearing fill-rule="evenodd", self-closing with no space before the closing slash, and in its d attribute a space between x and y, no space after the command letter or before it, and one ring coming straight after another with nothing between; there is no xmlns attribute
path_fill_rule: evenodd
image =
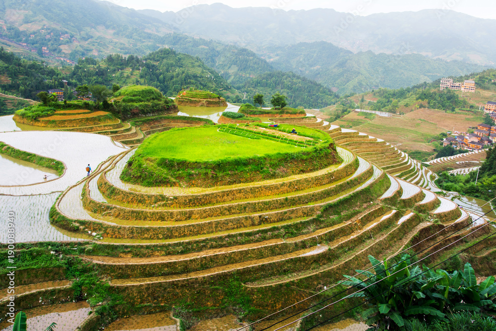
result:
<svg viewBox="0 0 496 331"><path fill-rule="evenodd" d="M481 71L496 60L496 20L445 10L355 16L215 3L175 13L98 0L54 0L50 7L4 0L0 19L0 44L28 59L145 56L167 47L197 57L248 95L257 86L292 93L291 85L313 81L318 93L318 84L340 94L400 88Z"/></svg>

